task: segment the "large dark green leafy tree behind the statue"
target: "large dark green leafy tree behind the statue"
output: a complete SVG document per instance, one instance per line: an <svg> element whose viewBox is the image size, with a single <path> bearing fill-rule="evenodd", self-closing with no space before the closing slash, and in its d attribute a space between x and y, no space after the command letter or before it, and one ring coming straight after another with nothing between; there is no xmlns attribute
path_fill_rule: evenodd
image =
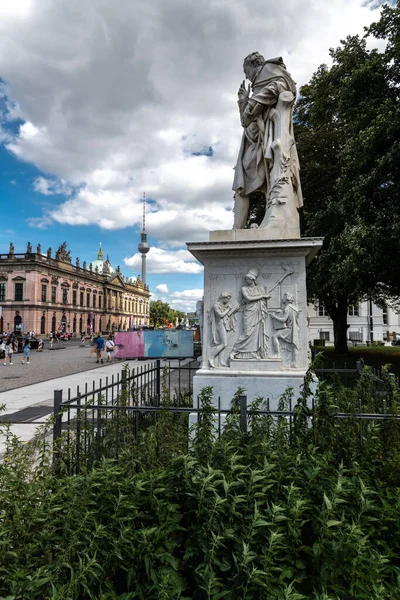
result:
<svg viewBox="0 0 400 600"><path fill-rule="evenodd" d="M331 50L332 66L301 88L295 108L303 234L325 237L309 299L332 318L337 352L347 352L349 305L400 294L399 40L399 7L384 7L363 38Z"/></svg>

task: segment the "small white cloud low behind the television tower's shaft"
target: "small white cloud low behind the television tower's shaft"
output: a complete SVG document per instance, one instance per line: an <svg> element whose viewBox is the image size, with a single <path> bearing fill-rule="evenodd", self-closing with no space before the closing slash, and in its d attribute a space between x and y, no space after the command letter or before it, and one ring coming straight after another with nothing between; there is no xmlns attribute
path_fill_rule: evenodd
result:
<svg viewBox="0 0 400 600"><path fill-rule="evenodd" d="M136 253L124 259L127 267L139 271L142 265L141 254ZM150 248L146 259L148 273L186 273L197 274L203 271L200 265L188 250L163 250L162 248Z"/></svg>

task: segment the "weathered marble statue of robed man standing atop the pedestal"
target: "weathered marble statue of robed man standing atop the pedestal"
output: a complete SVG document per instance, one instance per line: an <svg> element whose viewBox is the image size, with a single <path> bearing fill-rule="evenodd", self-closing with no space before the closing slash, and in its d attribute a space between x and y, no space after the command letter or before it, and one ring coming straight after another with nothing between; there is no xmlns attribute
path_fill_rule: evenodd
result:
<svg viewBox="0 0 400 600"><path fill-rule="evenodd" d="M258 52L243 63L246 78L239 87L238 105L243 127L233 181L234 229L243 229L249 211L249 194L266 195L261 228L276 229L273 239L300 236L297 209L303 204L299 161L293 137L293 103L296 84L282 58L265 60ZM251 92L251 94L250 94Z"/></svg>

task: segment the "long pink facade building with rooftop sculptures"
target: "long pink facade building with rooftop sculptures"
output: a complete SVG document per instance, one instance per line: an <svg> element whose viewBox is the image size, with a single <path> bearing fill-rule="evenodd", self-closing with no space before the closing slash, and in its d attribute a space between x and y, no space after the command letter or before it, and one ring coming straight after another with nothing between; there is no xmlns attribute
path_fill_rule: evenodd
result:
<svg viewBox="0 0 400 600"><path fill-rule="evenodd" d="M0 331L123 331L149 323L150 291L126 278L100 251L89 265L72 264L66 243L52 256L33 251L0 254Z"/></svg>

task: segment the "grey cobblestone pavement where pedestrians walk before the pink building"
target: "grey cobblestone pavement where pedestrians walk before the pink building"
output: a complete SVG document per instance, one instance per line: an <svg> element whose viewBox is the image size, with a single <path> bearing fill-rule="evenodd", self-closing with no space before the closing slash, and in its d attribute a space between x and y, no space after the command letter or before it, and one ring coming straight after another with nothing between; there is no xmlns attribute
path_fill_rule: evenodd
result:
<svg viewBox="0 0 400 600"><path fill-rule="evenodd" d="M21 364L22 352L13 355L13 364L4 366L4 360L0 360L0 392L13 390L24 385L48 381L56 377L72 375L104 367L97 365L91 346L80 346L80 341L58 342L54 347L59 350L50 350L48 342L45 342L45 348L42 352L31 350L31 364ZM118 361L121 369L124 361ZM140 364L140 362L139 362Z"/></svg>

